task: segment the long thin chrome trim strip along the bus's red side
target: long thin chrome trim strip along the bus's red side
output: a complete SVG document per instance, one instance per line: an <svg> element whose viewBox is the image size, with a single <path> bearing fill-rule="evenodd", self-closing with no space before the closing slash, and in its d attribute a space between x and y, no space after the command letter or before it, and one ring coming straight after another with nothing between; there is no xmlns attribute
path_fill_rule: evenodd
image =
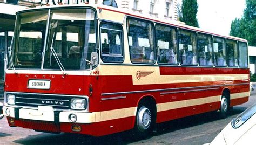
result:
<svg viewBox="0 0 256 145"><path fill-rule="evenodd" d="M133 94L133 93L146 93L146 92L160 92L160 91L174 91L174 90L179 90L179 89L193 89L193 88L207 88L207 87L238 86L238 85L248 85L248 84L250 84L250 83L227 84L227 85L212 85L212 86L198 86L198 87L180 87L180 88L149 89L149 90L142 90L142 91L102 93L102 96L105 96L105 95L119 95L119 94Z"/></svg>

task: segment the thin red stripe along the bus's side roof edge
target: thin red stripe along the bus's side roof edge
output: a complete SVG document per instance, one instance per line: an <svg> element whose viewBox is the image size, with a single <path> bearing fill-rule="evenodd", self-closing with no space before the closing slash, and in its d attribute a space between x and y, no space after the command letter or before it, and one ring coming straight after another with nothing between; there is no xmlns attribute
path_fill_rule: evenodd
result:
<svg viewBox="0 0 256 145"><path fill-rule="evenodd" d="M198 31L198 32L207 33L207 34L212 34L212 35L214 35L214 36L219 36L219 37L224 37L224 38L230 38L230 39L239 40L239 41L241 41L241 42L247 43L247 40L244 40L244 39L241 39L241 38L232 38L232 37L222 36L222 35L220 35L220 34L210 33L210 32L206 32L206 31L202 31L202 30L191 29L191 28L188 28L188 27L185 27L185 26L179 26L179 25L175 25L175 24L172 24L172 23L166 23L166 22L163 22L163 21L160 21L160 20L150 19L150 18L148 18L148 17L142 17L142 16L133 15L133 14L131 14L131 13L126 13L126 12L121 12L121 11L116 11L116 10L101 8L101 7L98 7L98 9L103 9L103 10L107 10L107 11L113 11L113 12L123 13L123 14L125 14L125 15L129 15L129 16L133 16L133 17L137 17L137 18L143 18L143 19L147 19L147 20L154 21L154 22L164 23L164 24L168 24L168 25L171 25L171 26L179 27L179 28L184 28L184 29L193 30L193 31Z"/></svg>

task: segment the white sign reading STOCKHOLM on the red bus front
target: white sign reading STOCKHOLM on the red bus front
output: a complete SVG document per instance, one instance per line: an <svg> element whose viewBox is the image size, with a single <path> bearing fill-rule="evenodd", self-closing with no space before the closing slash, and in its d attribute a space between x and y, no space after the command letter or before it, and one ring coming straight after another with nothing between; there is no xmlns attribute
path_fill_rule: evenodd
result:
<svg viewBox="0 0 256 145"><path fill-rule="evenodd" d="M28 88L32 89L50 89L50 80L29 80Z"/></svg>

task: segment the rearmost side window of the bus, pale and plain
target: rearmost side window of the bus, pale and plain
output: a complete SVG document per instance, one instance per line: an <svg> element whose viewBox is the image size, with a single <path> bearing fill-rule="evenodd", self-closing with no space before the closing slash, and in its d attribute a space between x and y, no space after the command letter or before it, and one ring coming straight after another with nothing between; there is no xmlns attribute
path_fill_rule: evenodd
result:
<svg viewBox="0 0 256 145"><path fill-rule="evenodd" d="M247 52L247 44L239 42L239 66L240 67L248 67L248 52Z"/></svg>

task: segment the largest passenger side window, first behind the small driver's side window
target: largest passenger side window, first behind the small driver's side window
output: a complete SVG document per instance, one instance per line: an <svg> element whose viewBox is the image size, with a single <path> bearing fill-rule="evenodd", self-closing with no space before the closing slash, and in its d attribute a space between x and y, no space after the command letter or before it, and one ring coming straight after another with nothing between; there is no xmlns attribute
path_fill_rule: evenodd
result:
<svg viewBox="0 0 256 145"><path fill-rule="evenodd" d="M132 63L154 64L153 23L129 18L127 31Z"/></svg>

